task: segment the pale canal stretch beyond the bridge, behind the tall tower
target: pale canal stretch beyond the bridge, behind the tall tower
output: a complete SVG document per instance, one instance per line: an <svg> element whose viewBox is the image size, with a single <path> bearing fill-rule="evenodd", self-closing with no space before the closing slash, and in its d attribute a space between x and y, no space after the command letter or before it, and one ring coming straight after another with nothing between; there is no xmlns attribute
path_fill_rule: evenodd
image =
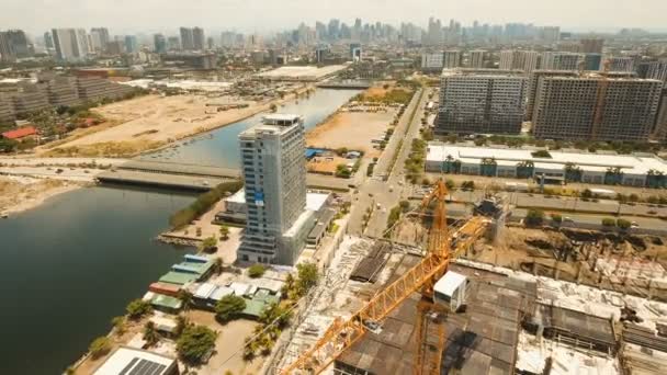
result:
<svg viewBox="0 0 667 375"><path fill-rule="evenodd" d="M291 102L279 107L278 112L302 115L305 128L309 129L359 92L361 91L317 90L307 99L299 99L298 103ZM207 134L177 143L173 147L145 155L142 159L236 169L238 168L240 158L238 148L239 133L258 124L265 115L267 113L260 113Z"/></svg>

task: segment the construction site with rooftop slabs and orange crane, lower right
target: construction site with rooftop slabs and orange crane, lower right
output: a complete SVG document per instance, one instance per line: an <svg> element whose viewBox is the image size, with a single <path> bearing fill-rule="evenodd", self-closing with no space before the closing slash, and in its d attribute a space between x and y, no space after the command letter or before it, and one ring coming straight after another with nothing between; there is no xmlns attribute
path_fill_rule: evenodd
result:
<svg viewBox="0 0 667 375"><path fill-rule="evenodd" d="M507 226L495 200L453 220L446 194L347 236L268 373L665 373L663 239Z"/></svg>

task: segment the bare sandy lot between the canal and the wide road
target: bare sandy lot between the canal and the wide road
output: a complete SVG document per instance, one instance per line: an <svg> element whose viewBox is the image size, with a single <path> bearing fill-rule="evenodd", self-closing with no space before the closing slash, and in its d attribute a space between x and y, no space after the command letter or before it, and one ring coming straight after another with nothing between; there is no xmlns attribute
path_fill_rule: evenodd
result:
<svg viewBox="0 0 667 375"><path fill-rule="evenodd" d="M308 147L336 149L347 147L362 150L366 157L376 157L381 152L373 148L371 140L383 138L395 111L386 113L339 112L326 123L306 134Z"/></svg>

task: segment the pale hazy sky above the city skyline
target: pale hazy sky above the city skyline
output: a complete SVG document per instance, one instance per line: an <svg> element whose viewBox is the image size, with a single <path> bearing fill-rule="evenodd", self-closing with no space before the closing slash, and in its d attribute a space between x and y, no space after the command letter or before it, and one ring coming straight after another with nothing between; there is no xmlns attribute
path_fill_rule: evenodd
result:
<svg viewBox="0 0 667 375"><path fill-rule="evenodd" d="M565 30L667 30L667 0L0 0L0 29L41 34L50 27L106 26L111 33L208 30L265 32L301 21L426 25L429 16L488 23L532 22Z"/></svg>

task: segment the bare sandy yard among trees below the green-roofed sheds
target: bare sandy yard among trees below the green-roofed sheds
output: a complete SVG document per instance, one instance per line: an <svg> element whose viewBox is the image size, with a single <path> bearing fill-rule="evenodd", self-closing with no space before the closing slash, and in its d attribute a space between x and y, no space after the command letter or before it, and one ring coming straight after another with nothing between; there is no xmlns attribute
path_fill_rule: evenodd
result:
<svg viewBox="0 0 667 375"><path fill-rule="evenodd" d="M259 374L262 357L252 362L245 362L242 357L244 340L252 336L257 322L241 319L222 326L215 320L213 312L202 310L188 311L188 318L196 325L206 326L219 332L215 342L216 353L207 364L195 370L199 375L219 375L226 371L230 371L235 375Z"/></svg>

